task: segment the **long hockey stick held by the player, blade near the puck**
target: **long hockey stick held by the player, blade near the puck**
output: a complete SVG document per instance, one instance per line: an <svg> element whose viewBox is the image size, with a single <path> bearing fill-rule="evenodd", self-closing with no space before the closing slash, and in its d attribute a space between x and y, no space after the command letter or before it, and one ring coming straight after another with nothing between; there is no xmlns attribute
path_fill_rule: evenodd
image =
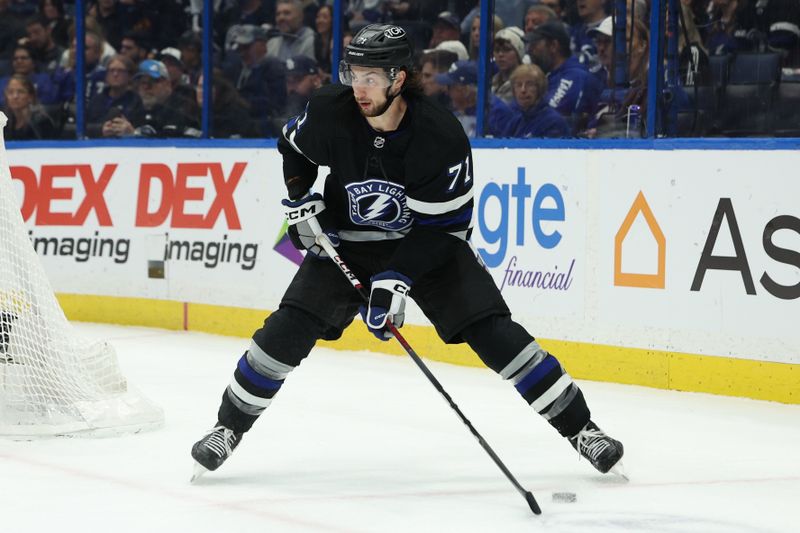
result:
<svg viewBox="0 0 800 533"><path fill-rule="evenodd" d="M360 281L358 281L358 278L356 277L355 274L353 274L353 271L347 267L347 264L342 260L341 256L338 253L336 253L336 248L333 246L333 244L331 244L331 241L328 239L328 236L322 232L322 228L319 227L319 223L313 218L310 219L308 222L309 225L311 226L311 230L316 235L317 244L322 246L325 252L327 252L328 256L330 256L330 258L333 260L336 266L339 267L339 270L342 272L342 274L345 275L345 277L350 281L350 284L353 286L353 288L355 288L355 290L361 296L361 299L368 303L369 295L364 290L364 286L361 285ZM414 351L411 345L408 344L408 341L406 341L403 335L400 334L400 331L395 327L394 324L392 324L392 321L387 320L386 326L389 328L389 331L392 332L394 338L397 339L397 342L400 343L400 345L403 347L403 349L406 351L409 357L411 357L411 359L414 360L419 369L422 370L422 373L425 374L425 377L428 378L428 381L430 381L431 384L434 387L436 387L436 390L439 391L439 394L441 394L445 400L447 400L447 403L450 404L450 407L453 409L453 411L456 412L456 414L464 423L464 425L469 428L469 431L472 433L472 435L476 439L478 439L478 443L481 445L484 451L486 451L486 453L489 454L489 457L492 458L494 463L503 472L503 474L506 475L506 478L508 478L511 484L514 485L514 488L517 489L517 492L519 492L520 495L522 495L522 497L525 498L525 501L528 502L528 506L531 508L531 511L533 511L533 514L537 515L542 514L542 510L541 508L539 508L539 504L536 502L536 498L533 497L531 491L525 490L522 487L522 485L520 485L519 481L517 481L517 479L514 477L511 471L509 471L506 465L503 464L503 461L500 460L500 458L494 452L492 447L489 446L489 443L486 442L486 439L484 439L481 436L481 434L478 433L478 430L475 429L475 426L472 425L472 422L470 422L469 419L464 415L464 413L461 412L461 409L459 409L459 407L453 401L453 398L451 398L450 395L447 393L447 391L444 390L442 384L439 383L439 380L436 379L436 376L433 375L433 373L428 369L427 365L422 361L419 355L417 355L417 352Z"/></svg>

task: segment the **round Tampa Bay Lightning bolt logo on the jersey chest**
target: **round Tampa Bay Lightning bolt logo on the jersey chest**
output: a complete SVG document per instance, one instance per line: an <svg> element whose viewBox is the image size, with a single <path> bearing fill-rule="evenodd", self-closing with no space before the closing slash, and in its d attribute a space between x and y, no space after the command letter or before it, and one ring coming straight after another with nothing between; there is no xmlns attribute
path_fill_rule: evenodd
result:
<svg viewBox="0 0 800 533"><path fill-rule="evenodd" d="M345 188L354 224L386 231L401 231L411 226L411 210L406 206L402 185L373 179L349 183Z"/></svg>

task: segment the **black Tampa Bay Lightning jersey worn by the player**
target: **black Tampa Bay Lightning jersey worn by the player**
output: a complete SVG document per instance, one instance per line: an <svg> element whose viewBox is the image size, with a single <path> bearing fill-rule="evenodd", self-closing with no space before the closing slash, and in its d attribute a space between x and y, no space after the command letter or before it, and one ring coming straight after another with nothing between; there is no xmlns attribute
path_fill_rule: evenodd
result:
<svg viewBox="0 0 800 533"><path fill-rule="evenodd" d="M408 109L396 131L372 129L352 89L318 90L283 128L278 149L290 198L328 166L325 203L346 241L397 241L390 268L412 280L443 264L472 227L469 141L447 109L403 95Z"/></svg>

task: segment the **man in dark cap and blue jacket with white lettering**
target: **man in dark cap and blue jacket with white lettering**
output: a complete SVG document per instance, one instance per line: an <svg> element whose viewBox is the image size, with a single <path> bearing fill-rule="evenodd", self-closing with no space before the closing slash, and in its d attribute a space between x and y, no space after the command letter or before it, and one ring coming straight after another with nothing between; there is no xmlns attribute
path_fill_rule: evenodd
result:
<svg viewBox="0 0 800 533"><path fill-rule="evenodd" d="M588 113L602 91L600 80L570 55L569 34L561 22L545 22L526 35L531 62L547 74L550 107L562 115Z"/></svg>

